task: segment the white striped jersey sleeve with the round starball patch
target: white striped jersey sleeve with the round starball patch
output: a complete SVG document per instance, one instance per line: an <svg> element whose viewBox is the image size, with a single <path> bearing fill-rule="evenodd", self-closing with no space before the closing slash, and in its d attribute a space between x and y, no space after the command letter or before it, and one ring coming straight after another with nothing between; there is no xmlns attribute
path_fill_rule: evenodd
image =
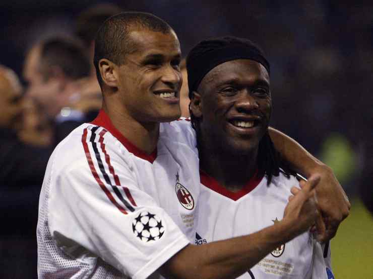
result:
<svg viewBox="0 0 373 279"><path fill-rule="evenodd" d="M98 131L95 135L85 129L79 148L67 154L61 148L55 156L50 233L72 257L98 256L131 278L146 278L189 241L154 199L140 190L133 166L119 148ZM79 254L82 247L91 255Z"/></svg>

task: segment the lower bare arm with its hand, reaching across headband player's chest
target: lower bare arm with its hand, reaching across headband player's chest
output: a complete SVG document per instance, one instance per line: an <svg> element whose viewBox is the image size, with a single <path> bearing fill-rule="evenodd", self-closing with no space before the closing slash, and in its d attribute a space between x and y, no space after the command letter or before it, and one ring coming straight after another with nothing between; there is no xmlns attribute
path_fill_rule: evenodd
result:
<svg viewBox="0 0 373 279"><path fill-rule="evenodd" d="M285 208L284 218L256 233L201 246L188 245L170 258L160 272L167 278L235 278L279 245L307 231L318 216L314 176Z"/></svg>

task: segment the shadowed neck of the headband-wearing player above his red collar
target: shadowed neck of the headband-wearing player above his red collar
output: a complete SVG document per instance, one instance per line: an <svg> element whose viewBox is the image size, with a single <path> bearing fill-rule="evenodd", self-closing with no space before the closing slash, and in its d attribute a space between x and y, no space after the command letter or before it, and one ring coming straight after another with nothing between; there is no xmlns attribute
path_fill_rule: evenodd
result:
<svg viewBox="0 0 373 279"><path fill-rule="evenodd" d="M201 143L199 150L201 169L231 192L245 187L257 171L258 149L238 155L221 148L206 148Z"/></svg>

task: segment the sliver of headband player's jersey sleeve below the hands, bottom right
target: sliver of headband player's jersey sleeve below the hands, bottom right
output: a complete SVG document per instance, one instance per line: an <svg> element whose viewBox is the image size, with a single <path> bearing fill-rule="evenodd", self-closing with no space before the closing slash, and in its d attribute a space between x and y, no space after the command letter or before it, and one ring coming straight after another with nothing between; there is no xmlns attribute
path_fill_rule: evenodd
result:
<svg viewBox="0 0 373 279"><path fill-rule="evenodd" d="M314 239L312 278L334 279L329 241L321 244Z"/></svg>

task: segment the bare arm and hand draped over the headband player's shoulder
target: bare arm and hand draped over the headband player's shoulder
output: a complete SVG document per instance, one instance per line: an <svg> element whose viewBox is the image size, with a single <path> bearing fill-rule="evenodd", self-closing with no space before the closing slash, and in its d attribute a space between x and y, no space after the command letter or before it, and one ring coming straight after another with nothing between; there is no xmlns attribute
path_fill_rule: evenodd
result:
<svg viewBox="0 0 373 279"><path fill-rule="evenodd" d="M269 134L275 148L292 169L306 177L320 174L321 181L316 187L316 193L326 225L326 231L320 239L327 241L333 238L339 224L349 215L351 204L332 169L280 131L270 127Z"/></svg>

